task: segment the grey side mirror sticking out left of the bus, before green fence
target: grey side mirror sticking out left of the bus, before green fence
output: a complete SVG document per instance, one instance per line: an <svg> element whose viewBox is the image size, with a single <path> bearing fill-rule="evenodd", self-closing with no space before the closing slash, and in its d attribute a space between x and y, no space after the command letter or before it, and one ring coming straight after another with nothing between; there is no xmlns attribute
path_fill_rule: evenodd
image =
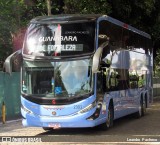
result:
<svg viewBox="0 0 160 145"><path fill-rule="evenodd" d="M10 56L8 56L4 62L4 70L5 72L11 73L14 71L20 71L22 62L22 54L21 50L18 50L14 53L12 53Z"/></svg>

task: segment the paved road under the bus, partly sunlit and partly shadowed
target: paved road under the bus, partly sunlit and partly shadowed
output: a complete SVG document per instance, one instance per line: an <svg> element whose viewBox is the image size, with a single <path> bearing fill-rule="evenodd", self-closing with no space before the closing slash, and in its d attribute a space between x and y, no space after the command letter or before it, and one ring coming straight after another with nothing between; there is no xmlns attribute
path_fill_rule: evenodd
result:
<svg viewBox="0 0 160 145"><path fill-rule="evenodd" d="M36 127L23 127L21 120L0 124L0 137L35 137L45 142L104 143L147 142L160 144L160 101L153 103L140 119L133 115L114 121L114 126L102 131L99 128L58 129L44 131Z"/></svg>

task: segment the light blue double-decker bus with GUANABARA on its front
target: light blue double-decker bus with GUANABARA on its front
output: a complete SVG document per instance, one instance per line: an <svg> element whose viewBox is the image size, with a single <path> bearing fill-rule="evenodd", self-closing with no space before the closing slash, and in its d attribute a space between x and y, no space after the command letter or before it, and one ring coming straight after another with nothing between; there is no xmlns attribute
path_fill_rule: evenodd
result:
<svg viewBox="0 0 160 145"><path fill-rule="evenodd" d="M107 15L42 16L30 21L5 69L21 68L24 126L107 129L145 114L152 55L149 34Z"/></svg>

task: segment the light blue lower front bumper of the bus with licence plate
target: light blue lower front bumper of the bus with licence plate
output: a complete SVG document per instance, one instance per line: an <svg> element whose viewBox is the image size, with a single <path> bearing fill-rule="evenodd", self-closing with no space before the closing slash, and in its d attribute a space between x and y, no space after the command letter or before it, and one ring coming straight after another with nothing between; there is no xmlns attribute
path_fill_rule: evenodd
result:
<svg viewBox="0 0 160 145"><path fill-rule="evenodd" d="M101 123L104 123L106 118L97 118L95 120L88 120L87 118L94 113L95 110L77 114L74 116L61 116L61 117L47 117L47 116L36 116L34 114L24 114L22 120L23 126L34 126L34 127L50 127L50 128L83 128L83 127L94 127Z"/></svg>

